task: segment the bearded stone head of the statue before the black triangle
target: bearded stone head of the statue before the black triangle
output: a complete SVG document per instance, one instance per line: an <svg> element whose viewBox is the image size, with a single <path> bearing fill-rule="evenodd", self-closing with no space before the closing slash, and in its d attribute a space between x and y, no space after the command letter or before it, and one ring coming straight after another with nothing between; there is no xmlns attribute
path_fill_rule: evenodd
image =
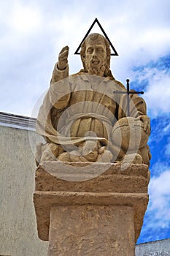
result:
<svg viewBox="0 0 170 256"><path fill-rule="evenodd" d="M81 59L84 69L90 75L112 77L109 41L101 34L90 34L81 45Z"/></svg>

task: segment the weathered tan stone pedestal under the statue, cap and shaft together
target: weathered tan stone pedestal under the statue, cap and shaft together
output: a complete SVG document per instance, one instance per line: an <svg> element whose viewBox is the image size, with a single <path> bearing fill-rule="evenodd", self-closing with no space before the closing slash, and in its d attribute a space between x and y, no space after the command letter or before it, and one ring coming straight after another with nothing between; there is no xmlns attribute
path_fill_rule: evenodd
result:
<svg viewBox="0 0 170 256"><path fill-rule="evenodd" d="M87 163L72 165L88 170ZM68 181L72 177L59 162L43 162L36 169L34 206L39 238L50 243L48 255L134 256L148 203L147 165L121 170L117 164L94 163L93 173L83 175L85 181Z"/></svg>

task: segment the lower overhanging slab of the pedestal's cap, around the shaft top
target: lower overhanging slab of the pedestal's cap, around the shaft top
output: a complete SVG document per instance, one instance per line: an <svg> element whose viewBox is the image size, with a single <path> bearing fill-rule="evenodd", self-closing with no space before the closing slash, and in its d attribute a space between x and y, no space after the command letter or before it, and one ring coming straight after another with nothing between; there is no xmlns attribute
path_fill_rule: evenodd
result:
<svg viewBox="0 0 170 256"><path fill-rule="evenodd" d="M147 208L146 193L90 193L90 192L35 192L34 206L39 238L48 241L50 230L50 211L52 206L130 206L134 213L134 230L137 241Z"/></svg>

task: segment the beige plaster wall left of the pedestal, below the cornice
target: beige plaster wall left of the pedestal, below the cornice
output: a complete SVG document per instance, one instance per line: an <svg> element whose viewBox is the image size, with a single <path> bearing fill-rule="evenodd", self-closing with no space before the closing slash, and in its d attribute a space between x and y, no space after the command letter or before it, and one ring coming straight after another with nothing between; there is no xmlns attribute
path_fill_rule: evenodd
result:
<svg viewBox="0 0 170 256"><path fill-rule="evenodd" d="M47 255L36 232L35 170L28 130L0 126L0 255Z"/></svg>

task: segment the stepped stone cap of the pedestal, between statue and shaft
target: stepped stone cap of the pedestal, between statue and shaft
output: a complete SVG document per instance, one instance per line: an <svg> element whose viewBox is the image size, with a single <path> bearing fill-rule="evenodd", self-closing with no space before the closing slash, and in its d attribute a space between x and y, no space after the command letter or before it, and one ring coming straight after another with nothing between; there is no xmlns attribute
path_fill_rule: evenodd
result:
<svg viewBox="0 0 170 256"><path fill-rule="evenodd" d="M146 165L131 165L123 171L120 165L109 164L108 170L101 176L81 182L61 180L52 176L46 171L47 165L56 171L60 167L58 162L44 162L36 170L34 206L39 238L45 241L49 239L52 206L61 209L61 206L77 208L91 205L130 207L134 214L134 241L137 240L148 203ZM77 167L78 165L77 163ZM99 163L93 165L94 170L100 168ZM114 212L112 214L114 215Z"/></svg>

